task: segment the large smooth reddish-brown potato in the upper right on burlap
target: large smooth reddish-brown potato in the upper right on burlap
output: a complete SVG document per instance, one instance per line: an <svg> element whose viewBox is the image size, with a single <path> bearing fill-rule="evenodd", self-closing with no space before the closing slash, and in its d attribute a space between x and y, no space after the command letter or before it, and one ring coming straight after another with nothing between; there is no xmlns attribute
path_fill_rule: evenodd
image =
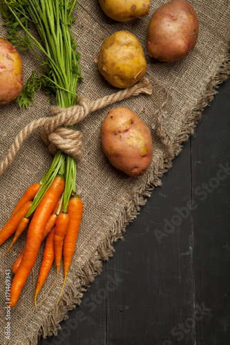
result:
<svg viewBox="0 0 230 345"><path fill-rule="evenodd" d="M198 39L198 17L185 0L157 8L148 24L148 52L160 61L177 61L189 54Z"/></svg>

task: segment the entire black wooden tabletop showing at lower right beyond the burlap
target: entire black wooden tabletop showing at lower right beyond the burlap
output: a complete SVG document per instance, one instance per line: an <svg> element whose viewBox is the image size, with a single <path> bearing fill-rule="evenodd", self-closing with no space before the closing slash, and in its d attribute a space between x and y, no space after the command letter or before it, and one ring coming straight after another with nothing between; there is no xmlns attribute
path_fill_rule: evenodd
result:
<svg viewBox="0 0 230 345"><path fill-rule="evenodd" d="M230 344L230 79L124 242L39 345Z"/></svg>

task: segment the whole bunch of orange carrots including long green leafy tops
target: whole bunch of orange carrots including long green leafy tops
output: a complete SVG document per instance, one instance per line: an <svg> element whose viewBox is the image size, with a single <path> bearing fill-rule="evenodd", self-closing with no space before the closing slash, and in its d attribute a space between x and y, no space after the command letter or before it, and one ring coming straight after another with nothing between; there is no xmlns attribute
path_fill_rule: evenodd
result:
<svg viewBox="0 0 230 345"><path fill-rule="evenodd" d="M77 0L1 0L0 10L8 28L8 40L19 49L30 49L44 71L32 72L17 99L19 106L28 108L32 95L41 86L48 95L55 95L57 106L68 108L75 105L76 88L82 80L78 65L80 55L76 52L77 43L73 36L75 18L72 14L76 4ZM37 29L39 40L30 31L30 23ZM41 241L46 236L35 306L37 294L54 259L58 275L61 255L64 257L64 284L66 282L82 218L82 200L76 195L76 170L72 157L57 152L39 184L28 188L0 231L0 244L15 233L11 248L28 226L26 246L12 266L15 277L11 286L11 307L17 303L35 264Z"/></svg>

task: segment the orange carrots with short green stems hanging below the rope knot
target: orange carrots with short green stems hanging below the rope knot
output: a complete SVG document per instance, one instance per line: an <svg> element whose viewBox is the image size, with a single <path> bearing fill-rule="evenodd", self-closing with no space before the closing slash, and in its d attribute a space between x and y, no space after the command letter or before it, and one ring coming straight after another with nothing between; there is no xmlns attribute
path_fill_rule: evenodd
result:
<svg viewBox="0 0 230 345"><path fill-rule="evenodd" d="M57 155L63 154L59 152ZM35 307L37 295L46 281L54 259L58 275L62 255L64 284L66 282L68 268L75 252L83 206L82 199L75 193L75 179L73 179L73 171L71 172L74 166L71 165L71 158L67 158L67 168L66 165L60 166L60 161L58 157L57 166L54 163L51 165L52 169L46 172L46 178L26 190L10 219L0 231L0 244L15 234L9 250L29 224L25 248L12 266L15 277L10 288L11 308L17 304L26 279L35 265L41 241L45 237L46 244L35 290ZM68 183L65 183L66 179Z"/></svg>

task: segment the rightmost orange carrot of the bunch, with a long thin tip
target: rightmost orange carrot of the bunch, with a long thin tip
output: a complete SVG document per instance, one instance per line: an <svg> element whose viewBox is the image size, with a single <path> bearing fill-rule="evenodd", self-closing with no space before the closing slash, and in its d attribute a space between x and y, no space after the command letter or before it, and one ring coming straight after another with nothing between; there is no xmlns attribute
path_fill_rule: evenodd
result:
<svg viewBox="0 0 230 345"><path fill-rule="evenodd" d="M70 222L68 224L68 230L63 244L64 282L61 288L59 299L61 298L62 291L64 290L66 278L68 275L68 269L70 268L73 254L75 253L78 230L82 221L83 204L82 199L78 195L73 195L72 197L70 197L67 213L70 216ZM59 302L59 299L57 300L57 304ZM55 309L57 307L57 304L55 306ZM55 309L53 313L55 312Z"/></svg>

